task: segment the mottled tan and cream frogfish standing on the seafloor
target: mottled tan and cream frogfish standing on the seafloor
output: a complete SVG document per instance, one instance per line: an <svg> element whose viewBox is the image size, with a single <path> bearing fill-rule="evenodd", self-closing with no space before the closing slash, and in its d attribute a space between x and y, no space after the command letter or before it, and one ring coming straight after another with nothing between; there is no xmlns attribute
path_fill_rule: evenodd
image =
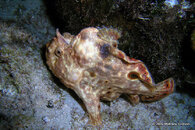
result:
<svg viewBox="0 0 195 130"><path fill-rule="evenodd" d="M137 104L173 92L172 78L155 84L142 61L117 48L120 33L114 29L90 27L77 36L57 30L56 35L46 45L47 64L82 99L93 125L101 124L100 99L112 101L123 93Z"/></svg>

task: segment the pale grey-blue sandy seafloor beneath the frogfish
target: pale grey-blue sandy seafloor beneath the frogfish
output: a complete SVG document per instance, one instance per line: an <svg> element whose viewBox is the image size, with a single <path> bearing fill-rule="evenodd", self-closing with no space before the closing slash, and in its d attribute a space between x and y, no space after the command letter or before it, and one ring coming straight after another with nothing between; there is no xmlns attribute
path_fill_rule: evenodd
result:
<svg viewBox="0 0 195 130"><path fill-rule="evenodd" d="M48 70L44 45L55 28L41 0L0 1L0 129L194 129L195 99L174 92L132 106L101 102L94 127L81 100Z"/></svg>

